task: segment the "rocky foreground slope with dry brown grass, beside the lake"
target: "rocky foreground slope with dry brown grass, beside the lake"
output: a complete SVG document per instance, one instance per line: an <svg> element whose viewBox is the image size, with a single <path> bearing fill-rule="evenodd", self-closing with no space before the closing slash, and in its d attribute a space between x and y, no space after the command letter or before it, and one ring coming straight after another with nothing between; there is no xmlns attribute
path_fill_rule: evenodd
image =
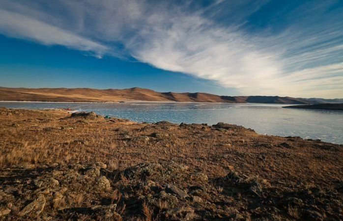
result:
<svg viewBox="0 0 343 221"><path fill-rule="evenodd" d="M342 220L342 145L0 109L0 220Z"/></svg>

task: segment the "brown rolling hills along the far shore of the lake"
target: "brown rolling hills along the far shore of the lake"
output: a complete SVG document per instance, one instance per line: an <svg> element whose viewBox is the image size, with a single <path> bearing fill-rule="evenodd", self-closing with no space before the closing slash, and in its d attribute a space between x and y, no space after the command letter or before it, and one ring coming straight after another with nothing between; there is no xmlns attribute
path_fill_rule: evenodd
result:
<svg viewBox="0 0 343 221"><path fill-rule="evenodd" d="M117 102L117 101L177 101L225 103L287 103L318 104L342 103L343 99L291 98L279 96L219 96L208 93L156 92L143 88L91 89L91 88L6 88L0 87L2 101L52 102Z"/></svg>

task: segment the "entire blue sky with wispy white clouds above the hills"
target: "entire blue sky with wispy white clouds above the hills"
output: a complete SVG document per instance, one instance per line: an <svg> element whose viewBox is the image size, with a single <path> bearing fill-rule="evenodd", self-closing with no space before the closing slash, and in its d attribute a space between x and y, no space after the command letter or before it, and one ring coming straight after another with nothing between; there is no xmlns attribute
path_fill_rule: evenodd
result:
<svg viewBox="0 0 343 221"><path fill-rule="evenodd" d="M343 98L343 0L0 0L0 86Z"/></svg>

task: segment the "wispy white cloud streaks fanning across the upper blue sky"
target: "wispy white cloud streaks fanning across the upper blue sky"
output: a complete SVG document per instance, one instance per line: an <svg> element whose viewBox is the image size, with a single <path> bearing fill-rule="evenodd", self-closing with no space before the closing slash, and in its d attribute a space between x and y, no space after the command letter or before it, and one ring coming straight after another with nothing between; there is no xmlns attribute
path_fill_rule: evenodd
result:
<svg viewBox="0 0 343 221"><path fill-rule="evenodd" d="M10 36L92 51L98 57L132 56L246 95L343 94L343 19L335 11L326 13L335 1L295 7L283 15L288 25L277 32L268 25L249 30L249 17L268 3L264 0L214 1L197 10L190 9L190 1L58 0L48 6L40 0L30 5L0 1L5 8L0 31Z"/></svg>

